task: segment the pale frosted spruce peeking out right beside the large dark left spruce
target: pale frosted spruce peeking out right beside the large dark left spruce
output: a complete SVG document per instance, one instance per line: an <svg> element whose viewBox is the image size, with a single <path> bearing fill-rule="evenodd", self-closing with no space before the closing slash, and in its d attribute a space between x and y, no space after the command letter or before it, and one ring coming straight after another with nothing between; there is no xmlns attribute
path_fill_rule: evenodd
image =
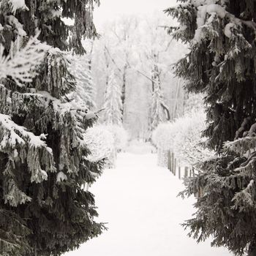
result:
<svg viewBox="0 0 256 256"><path fill-rule="evenodd" d="M70 68L77 82L76 91L70 97L84 102L90 110L94 109L94 81L91 76L91 64L88 56L72 56Z"/></svg>

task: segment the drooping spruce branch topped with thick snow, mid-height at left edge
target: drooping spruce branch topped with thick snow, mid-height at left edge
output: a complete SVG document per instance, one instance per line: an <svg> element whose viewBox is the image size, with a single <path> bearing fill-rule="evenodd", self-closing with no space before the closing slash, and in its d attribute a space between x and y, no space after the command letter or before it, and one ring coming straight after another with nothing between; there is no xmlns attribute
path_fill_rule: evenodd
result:
<svg viewBox="0 0 256 256"><path fill-rule="evenodd" d="M32 132L26 131L11 120L10 116L0 114L0 149L10 155L12 159L20 158L21 162L28 163L31 173L31 182L42 182L48 179L47 171L55 172L53 152L45 141L45 135L36 136ZM44 162L42 162L44 159ZM42 169L44 166L44 169Z"/></svg>

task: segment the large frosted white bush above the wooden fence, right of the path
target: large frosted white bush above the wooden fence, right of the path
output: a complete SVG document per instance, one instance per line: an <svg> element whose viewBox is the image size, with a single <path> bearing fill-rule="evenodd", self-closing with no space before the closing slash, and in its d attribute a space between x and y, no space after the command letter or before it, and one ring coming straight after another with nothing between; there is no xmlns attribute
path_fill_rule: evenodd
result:
<svg viewBox="0 0 256 256"><path fill-rule="evenodd" d="M203 110L177 118L173 123L159 124L152 140L158 151L158 164L167 166L167 154L171 151L183 165L195 165L211 157L212 151L203 146L201 132L206 128Z"/></svg>

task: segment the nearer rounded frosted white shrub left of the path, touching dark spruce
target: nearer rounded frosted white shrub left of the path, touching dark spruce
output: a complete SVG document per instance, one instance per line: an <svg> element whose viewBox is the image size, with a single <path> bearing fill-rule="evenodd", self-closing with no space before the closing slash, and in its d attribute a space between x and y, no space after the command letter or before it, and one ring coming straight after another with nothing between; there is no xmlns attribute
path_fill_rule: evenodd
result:
<svg viewBox="0 0 256 256"><path fill-rule="evenodd" d="M105 126L99 125L86 130L84 135L86 146L91 151L87 156L90 162L106 159L106 167L115 167L116 148L113 133Z"/></svg>

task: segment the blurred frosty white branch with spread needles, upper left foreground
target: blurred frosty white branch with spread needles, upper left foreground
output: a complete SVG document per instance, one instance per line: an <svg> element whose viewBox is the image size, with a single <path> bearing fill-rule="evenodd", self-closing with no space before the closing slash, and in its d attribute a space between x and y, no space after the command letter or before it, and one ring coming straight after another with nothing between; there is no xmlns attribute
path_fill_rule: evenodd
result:
<svg viewBox="0 0 256 256"><path fill-rule="evenodd" d="M37 67L45 57L48 46L39 42L37 37L31 37L24 47L22 39L18 37L12 42L10 53L4 56L4 46L0 45L0 78L10 76L18 86L30 83L37 75Z"/></svg>

